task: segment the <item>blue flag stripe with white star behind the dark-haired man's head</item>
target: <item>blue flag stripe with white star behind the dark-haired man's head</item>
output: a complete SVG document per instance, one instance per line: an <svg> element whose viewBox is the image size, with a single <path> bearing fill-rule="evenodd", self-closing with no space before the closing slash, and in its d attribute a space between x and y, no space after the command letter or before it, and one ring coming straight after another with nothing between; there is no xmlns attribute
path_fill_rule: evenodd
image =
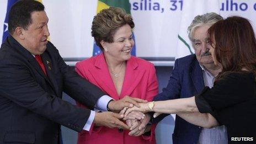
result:
<svg viewBox="0 0 256 144"><path fill-rule="evenodd" d="M10 8L13 6L13 4L15 2L17 2L18 0L8 0L8 4L7 4L7 10L6 10L6 19L4 19L4 24L3 24L3 38L2 38L2 43L4 42L4 40L6 40L7 36L9 35L8 33L8 20L9 20L9 10Z"/></svg>

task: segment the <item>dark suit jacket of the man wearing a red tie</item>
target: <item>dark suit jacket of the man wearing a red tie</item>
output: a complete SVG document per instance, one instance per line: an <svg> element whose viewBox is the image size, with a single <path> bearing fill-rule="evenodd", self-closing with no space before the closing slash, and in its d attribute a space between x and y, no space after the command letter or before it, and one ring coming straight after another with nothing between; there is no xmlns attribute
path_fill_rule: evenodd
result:
<svg viewBox="0 0 256 144"><path fill-rule="evenodd" d="M67 66L51 42L41 57L47 76L12 36L1 46L0 143L57 143L59 124L81 131L90 115L63 101L62 91L90 109L105 94Z"/></svg>

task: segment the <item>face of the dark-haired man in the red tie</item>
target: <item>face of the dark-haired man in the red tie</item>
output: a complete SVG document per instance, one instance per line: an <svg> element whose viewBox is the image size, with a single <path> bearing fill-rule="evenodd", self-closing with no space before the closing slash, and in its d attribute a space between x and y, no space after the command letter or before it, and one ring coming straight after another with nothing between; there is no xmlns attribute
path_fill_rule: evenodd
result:
<svg viewBox="0 0 256 144"><path fill-rule="evenodd" d="M50 35L47 23L45 11L35 11L31 13L28 28L22 28L22 45L33 55L40 55L46 49L47 36Z"/></svg>

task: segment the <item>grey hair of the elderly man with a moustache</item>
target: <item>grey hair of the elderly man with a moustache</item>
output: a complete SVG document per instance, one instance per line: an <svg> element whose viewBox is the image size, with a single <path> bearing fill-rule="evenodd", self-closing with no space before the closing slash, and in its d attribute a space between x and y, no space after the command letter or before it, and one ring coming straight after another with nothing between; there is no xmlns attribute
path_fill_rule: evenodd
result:
<svg viewBox="0 0 256 144"><path fill-rule="evenodd" d="M192 35L194 33L194 30L196 28L198 28L199 26L205 25L205 24L209 24L212 25L216 22L218 22L219 20L222 20L223 18L221 17L221 15L218 15L216 13L205 13L202 15L197 15L192 23L189 25L188 27L188 33L189 33L189 39L190 41L193 41Z"/></svg>

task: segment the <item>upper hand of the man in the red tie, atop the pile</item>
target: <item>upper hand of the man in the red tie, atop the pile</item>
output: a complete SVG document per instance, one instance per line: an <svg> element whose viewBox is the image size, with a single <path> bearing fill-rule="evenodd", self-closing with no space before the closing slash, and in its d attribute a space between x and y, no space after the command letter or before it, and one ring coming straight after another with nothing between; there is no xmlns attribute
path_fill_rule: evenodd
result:
<svg viewBox="0 0 256 144"><path fill-rule="evenodd" d="M147 103L147 100L139 99L139 98L132 98L129 96L125 96L124 98L120 100L112 100L108 104L108 108L111 111L119 112L120 110L124 109L125 107L127 108L132 108L132 106L137 106L140 107L139 103Z"/></svg>

